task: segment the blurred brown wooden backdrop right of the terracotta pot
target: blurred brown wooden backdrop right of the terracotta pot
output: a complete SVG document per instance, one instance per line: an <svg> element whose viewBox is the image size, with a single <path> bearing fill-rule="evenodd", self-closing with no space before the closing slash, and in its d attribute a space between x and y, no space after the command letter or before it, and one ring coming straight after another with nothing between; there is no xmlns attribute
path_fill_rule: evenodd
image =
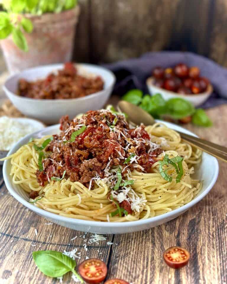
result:
<svg viewBox="0 0 227 284"><path fill-rule="evenodd" d="M114 62L147 51L183 50L227 66L226 0L79 0L80 62Z"/></svg>

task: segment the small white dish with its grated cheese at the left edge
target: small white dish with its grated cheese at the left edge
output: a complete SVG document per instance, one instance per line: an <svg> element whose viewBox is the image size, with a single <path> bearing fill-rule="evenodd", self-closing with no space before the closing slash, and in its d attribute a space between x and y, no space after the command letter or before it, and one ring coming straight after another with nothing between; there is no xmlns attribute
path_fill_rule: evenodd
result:
<svg viewBox="0 0 227 284"><path fill-rule="evenodd" d="M45 125L38 120L22 117L0 117L0 159L7 156L14 144L27 134L44 128ZM0 161L0 164L3 164Z"/></svg>

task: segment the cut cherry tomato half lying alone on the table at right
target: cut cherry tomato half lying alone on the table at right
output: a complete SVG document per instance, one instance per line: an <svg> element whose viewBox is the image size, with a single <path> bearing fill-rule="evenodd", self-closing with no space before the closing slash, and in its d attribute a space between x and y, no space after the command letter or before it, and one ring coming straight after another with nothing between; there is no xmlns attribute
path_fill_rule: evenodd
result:
<svg viewBox="0 0 227 284"><path fill-rule="evenodd" d="M188 263L190 254L186 249L179 246L172 246L164 251L163 258L169 267L178 269Z"/></svg>

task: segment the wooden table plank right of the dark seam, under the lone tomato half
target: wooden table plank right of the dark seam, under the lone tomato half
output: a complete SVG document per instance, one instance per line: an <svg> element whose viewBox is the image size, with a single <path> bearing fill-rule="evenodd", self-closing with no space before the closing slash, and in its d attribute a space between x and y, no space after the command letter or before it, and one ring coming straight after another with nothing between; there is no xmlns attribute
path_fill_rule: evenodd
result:
<svg viewBox="0 0 227 284"><path fill-rule="evenodd" d="M227 106L208 111L212 128L187 128L215 143L227 146ZM220 120L220 117L222 118ZM108 276L132 283L226 283L226 172L219 162L218 181L210 193L187 212L161 226L133 234L115 235ZM189 264L181 270L169 268L162 253L170 246L182 246L191 253Z"/></svg>

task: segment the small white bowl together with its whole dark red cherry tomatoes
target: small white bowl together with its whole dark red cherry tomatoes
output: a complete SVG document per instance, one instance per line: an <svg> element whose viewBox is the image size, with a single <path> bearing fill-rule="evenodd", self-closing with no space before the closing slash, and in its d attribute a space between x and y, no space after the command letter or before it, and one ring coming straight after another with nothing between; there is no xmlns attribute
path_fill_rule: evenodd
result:
<svg viewBox="0 0 227 284"><path fill-rule="evenodd" d="M201 77L200 69L184 63L166 69L155 67L152 76L147 78L147 88L150 94L160 93L165 100L181 97L194 106L204 103L213 92L210 81Z"/></svg>

